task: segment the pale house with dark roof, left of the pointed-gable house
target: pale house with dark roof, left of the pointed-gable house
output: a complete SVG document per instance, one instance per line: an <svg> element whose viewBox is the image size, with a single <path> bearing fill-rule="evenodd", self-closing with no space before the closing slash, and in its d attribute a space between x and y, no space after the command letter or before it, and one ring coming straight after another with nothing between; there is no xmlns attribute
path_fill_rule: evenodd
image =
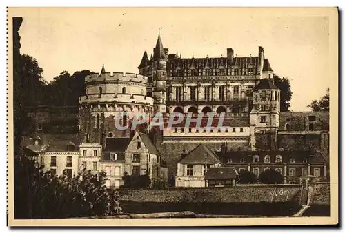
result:
<svg viewBox="0 0 345 233"><path fill-rule="evenodd" d="M125 172L125 150L129 138L106 138L106 147L101 155L101 170L106 172L107 188L120 188L124 184L122 176Z"/></svg>

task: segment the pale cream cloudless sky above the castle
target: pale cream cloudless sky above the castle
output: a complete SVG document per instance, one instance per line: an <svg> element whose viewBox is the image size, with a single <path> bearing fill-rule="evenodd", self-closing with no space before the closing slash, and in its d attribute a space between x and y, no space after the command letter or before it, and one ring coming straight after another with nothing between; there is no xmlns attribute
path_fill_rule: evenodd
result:
<svg viewBox="0 0 345 233"><path fill-rule="evenodd" d="M264 47L274 72L290 79L290 110L326 94L329 20L298 11L242 8L26 8L19 30L21 53L36 58L52 81L63 70L134 72L158 32L181 57L257 56Z"/></svg>

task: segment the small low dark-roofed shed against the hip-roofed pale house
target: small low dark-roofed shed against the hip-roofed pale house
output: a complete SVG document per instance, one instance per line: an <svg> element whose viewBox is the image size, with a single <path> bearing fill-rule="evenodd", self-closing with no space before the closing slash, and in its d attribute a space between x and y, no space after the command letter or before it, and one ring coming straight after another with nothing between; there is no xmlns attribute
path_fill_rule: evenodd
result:
<svg viewBox="0 0 345 233"><path fill-rule="evenodd" d="M234 167L210 168L206 172L207 187L235 186L238 172Z"/></svg>

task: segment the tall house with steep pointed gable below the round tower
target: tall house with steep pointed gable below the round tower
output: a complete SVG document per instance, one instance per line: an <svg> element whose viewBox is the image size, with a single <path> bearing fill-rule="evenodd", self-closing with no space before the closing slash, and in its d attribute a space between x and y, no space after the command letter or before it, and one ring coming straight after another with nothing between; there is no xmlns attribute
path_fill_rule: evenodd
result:
<svg viewBox="0 0 345 233"><path fill-rule="evenodd" d="M147 134L136 131L125 151L125 171L128 175L148 174L151 185L161 181L161 156Z"/></svg>

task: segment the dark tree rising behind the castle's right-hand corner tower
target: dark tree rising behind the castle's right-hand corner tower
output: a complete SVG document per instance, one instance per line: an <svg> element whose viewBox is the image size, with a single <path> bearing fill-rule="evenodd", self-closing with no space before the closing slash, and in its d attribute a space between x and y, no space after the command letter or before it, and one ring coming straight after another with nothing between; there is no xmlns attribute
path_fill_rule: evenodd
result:
<svg viewBox="0 0 345 233"><path fill-rule="evenodd" d="M286 77L279 77L277 74L273 75L273 80L277 88L280 89L280 112L287 112L290 108L290 101L293 92L291 92L290 80Z"/></svg>

